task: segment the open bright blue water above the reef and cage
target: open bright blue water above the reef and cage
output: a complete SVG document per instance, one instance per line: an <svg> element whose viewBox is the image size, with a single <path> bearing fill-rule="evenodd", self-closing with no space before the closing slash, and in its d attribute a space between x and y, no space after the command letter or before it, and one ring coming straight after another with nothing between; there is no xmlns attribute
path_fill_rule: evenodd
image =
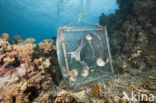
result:
<svg viewBox="0 0 156 103"><path fill-rule="evenodd" d="M106 15L118 9L116 0L0 0L0 34L9 33L37 42L57 35L57 28L78 19L98 23L102 12Z"/></svg>

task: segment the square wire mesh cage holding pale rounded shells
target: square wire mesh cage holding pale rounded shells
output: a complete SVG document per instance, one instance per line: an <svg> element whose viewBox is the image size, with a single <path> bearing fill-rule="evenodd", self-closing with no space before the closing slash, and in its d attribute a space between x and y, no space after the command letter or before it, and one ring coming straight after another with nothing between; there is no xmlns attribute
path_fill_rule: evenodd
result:
<svg viewBox="0 0 156 103"><path fill-rule="evenodd" d="M70 87L94 82L113 73L105 28L67 27L58 32L57 55Z"/></svg>

